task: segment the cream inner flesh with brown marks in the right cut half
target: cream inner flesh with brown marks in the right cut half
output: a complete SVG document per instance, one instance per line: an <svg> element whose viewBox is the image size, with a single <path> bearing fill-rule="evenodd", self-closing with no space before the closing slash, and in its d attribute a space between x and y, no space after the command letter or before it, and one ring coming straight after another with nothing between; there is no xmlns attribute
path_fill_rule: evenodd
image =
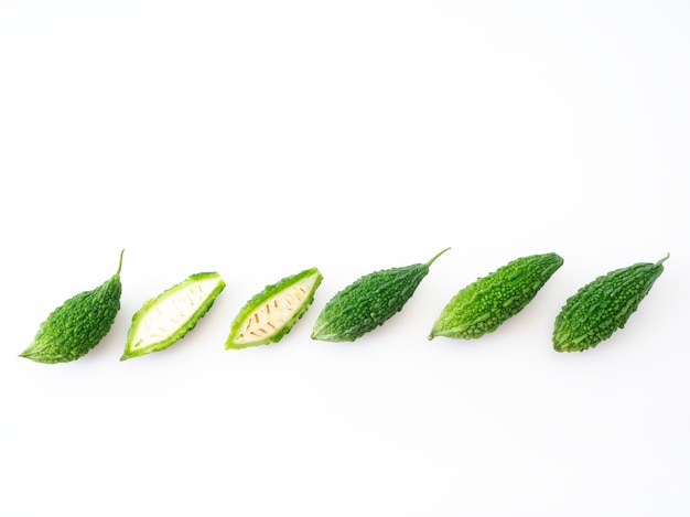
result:
<svg viewBox="0 0 690 517"><path fill-rule="evenodd" d="M269 298L242 322L241 332L235 338L235 343L252 343L276 335L283 324L300 310L315 281L316 276L312 274L273 298Z"/></svg>

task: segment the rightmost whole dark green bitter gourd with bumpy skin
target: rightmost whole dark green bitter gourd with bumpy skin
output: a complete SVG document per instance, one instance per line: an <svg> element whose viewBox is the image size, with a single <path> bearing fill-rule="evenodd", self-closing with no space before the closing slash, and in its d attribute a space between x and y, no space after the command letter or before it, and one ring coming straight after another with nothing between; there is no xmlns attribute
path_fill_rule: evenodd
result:
<svg viewBox="0 0 690 517"><path fill-rule="evenodd" d="M640 262L596 278L565 301L553 325L557 352L583 352L625 326L664 272L662 262Z"/></svg>

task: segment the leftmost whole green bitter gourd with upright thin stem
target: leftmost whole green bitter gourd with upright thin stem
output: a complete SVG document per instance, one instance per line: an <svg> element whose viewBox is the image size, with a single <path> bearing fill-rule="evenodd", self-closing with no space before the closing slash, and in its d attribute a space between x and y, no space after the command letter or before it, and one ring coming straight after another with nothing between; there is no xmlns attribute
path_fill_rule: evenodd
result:
<svg viewBox="0 0 690 517"><path fill-rule="evenodd" d="M86 355L108 334L120 310L120 269L101 286L82 292L55 309L41 323L21 357L36 363L68 363Z"/></svg>

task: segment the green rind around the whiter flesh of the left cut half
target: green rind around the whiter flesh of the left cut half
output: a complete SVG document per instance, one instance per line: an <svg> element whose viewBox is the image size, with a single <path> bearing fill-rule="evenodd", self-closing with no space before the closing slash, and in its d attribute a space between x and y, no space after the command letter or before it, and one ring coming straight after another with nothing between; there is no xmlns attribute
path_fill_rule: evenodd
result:
<svg viewBox="0 0 690 517"><path fill-rule="evenodd" d="M141 348L133 347L133 344L134 344L133 340L137 335L139 325L143 321L147 313L152 308L154 308L158 303L165 300L168 297L170 297L174 292L185 288L186 286L194 283L198 280L204 280L204 279L212 278L212 277L218 278L219 280L218 286L208 294L208 297L206 297L203 303L201 303L197 306L196 311L194 311L194 313L190 316L190 319L183 325L181 325L180 328L177 328L177 331L174 334L170 335L165 340L161 340L157 343L151 343L150 345L147 345L145 347L141 347ZM208 312L208 310L212 308L212 305L216 301L216 298L218 298L218 294L220 294L220 292L224 289L225 289L225 282L223 281L223 279L217 272L215 271L214 272L201 272L201 273L195 273L195 274L190 276L186 280L183 280L182 282L173 286L172 288L166 289L158 297L152 298L151 300L147 301L141 306L141 309L137 311L137 313L132 316L132 323L129 327L129 332L127 333L127 343L125 345L125 352L122 353L120 360L127 360L133 357L140 357L145 354L151 354L152 352L163 351L170 347L171 345L173 345L174 343L176 343L177 341L182 340L182 337L184 337L188 332L191 332L196 326L196 323L198 323L198 321Z"/></svg>

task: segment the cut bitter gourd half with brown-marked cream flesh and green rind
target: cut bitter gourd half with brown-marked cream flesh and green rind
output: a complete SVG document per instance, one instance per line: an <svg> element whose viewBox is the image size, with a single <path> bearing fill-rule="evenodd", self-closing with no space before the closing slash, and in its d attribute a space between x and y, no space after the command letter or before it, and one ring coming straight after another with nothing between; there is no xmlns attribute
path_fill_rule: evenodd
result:
<svg viewBox="0 0 690 517"><path fill-rule="evenodd" d="M278 343L304 315L322 280L319 269L312 268L267 286L237 314L225 348Z"/></svg>

